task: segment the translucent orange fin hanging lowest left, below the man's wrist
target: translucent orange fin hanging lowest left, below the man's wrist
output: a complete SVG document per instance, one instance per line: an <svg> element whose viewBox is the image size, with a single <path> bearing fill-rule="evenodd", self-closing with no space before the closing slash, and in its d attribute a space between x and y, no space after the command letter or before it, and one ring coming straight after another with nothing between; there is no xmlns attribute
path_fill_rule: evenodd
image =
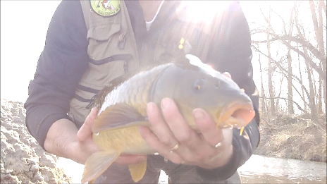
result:
<svg viewBox="0 0 327 184"><path fill-rule="evenodd" d="M104 152L96 152L92 154L84 166L82 183L94 181L101 173L104 173L107 168L117 159L121 152L117 150L109 150Z"/></svg>

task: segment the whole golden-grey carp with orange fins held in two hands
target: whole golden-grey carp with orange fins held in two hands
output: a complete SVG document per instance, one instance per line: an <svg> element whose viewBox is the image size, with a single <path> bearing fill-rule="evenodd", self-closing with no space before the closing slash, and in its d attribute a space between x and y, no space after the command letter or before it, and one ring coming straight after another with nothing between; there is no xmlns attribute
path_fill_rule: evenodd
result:
<svg viewBox="0 0 327 184"><path fill-rule="evenodd" d="M147 103L160 108L161 99L173 99L191 128L197 130L192 111L204 109L221 128L244 128L254 117L251 99L230 78L186 55L185 63L171 62L125 74L97 94L98 114L92 126L93 140L103 151L85 162L82 183L94 180L121 154L155 154L143 140L138 126L149 126ZM129 166L132 180L141 180L147 161Z"/></svg>

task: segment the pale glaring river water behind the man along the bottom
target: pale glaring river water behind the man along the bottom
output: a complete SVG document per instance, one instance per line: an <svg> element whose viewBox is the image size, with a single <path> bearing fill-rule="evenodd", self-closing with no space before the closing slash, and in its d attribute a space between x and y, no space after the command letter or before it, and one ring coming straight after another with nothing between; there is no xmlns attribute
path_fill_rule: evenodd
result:
<svg viewBox="0 0 327 184"><path fill-rule="evenodd" d="M59 159L72 183L80 183L84 166L69 159ZM326 162L300 161L252 155L238 169L242 183L326 183ZM161 171L159 183L168 183L168 176Z"/></svg>

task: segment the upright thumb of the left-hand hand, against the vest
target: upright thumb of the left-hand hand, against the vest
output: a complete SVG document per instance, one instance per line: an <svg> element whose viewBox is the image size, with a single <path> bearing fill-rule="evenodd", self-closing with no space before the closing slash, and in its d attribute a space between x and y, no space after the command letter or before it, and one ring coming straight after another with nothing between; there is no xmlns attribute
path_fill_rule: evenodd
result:
<svg viewBox="0 0 327 184"><path fill-rule="evenodd" d="M94 119L97 117L97 107L91 109L90 114L85 118L85 122L78 130L78 141L83 142L87 140L88 137L92 136L92 125L94 123Z"/></svg>

